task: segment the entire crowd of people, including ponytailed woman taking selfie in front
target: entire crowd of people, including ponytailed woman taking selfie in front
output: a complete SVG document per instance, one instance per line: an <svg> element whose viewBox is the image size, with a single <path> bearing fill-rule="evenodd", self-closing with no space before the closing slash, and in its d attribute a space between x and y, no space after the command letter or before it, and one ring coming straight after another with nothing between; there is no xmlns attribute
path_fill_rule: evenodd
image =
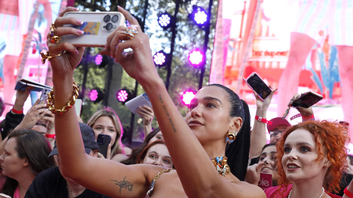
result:
<svg viewBox="0 0 353 198"><path fill-rule="evenodd" d="M62 25L79 23L63 17L68 11L76 10L66 8L54 23L61 35L70 34ZM74 108L54 114L39 101L24 115L30 88L18 91L1 131L1 193L13 198L353 197L346 125L315 120L311 107L299 107L299 124L281 117L270 119L271 125L255 119L250 130L247 103L218 84L197 92L184 119L155 71L148 36L130 13L119 11L136 33L129 38L122 33L126 27L118 27L101 54L116 58L147 94L153 93L153 110L143 106L138 111L144 142L132 149L121 143L119 112L110 107L94 113L87 124ZM50 60L54 106L61 108L73 93L68 87L83 48L50 41L48 47L53 55L70 52ZM122 54L125 48L133 51ZM264 101L254 93L257 117L267 118L274 93ZM160 128L152 130L154 114ZM99 134L111 137L106 157L98 149ZM261 173L272 175L272 186L264 191L258 187Z"/></svg>

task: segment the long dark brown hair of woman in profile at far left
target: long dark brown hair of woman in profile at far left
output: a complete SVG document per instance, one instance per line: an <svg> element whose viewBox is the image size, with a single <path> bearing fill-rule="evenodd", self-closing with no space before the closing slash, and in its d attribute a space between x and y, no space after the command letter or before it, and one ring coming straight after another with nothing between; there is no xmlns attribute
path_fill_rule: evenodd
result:
<svg viewBox="0 0 353 198"><path fill-rule="evenodd" d="M56 166L54 157L48 157L52 148L40 132L25 129L15 130L8 136L8 140L10 138L16 138L15 150L17 155L21 159L26 158L28 160L29 168L34 175ZM18 182L15 179L5 176L1 192L13 197L17 186Z"/></svg>

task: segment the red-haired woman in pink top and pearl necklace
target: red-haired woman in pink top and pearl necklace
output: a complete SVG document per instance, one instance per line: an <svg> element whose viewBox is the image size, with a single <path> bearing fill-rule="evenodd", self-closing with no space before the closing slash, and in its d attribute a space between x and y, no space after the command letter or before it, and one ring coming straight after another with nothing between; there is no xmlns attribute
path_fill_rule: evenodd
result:
<svg viewBox="0 0 353 198"><path fill-rule="evenodd" d="M340 197L330 192L340 189L346 165L345 130L327 120L310 120L289 128L277 144L279 186L267 188L267 197Z"/></svg>

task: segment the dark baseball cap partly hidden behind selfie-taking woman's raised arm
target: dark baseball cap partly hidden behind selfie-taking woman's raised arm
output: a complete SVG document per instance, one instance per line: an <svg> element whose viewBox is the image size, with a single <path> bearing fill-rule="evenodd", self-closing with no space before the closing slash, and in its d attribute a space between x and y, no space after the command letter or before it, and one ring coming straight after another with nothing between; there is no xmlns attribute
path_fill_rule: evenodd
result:
<svg viewBox="0 0 353 198"><path fill-rule="evenodd" d="M89 154L92 149L98 148L98 144L96 142L94 131L90 126L88 126L86 124L79 122L79 125L80 125L83 145L85 146L85 151L87 154ZM53 148L52 152L50 152L48 157L50 157L52 155L57 155L57 154L58 154L58 149L56 148L56 141L55 141L54 148Z"/></svg>

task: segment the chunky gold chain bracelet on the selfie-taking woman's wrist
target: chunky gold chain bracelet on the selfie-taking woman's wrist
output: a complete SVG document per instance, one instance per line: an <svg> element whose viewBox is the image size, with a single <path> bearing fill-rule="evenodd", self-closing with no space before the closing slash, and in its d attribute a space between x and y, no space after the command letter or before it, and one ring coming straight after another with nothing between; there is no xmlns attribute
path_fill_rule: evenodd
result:
<svg viewBox="0 0 353 198"><path fill-rule="evenodd" d="M63 106L61 109L55 109L54 107L54 87L52 87L52 91L48 93L48 98L47 98L47 108L54 114L62 114L66 112L69 108L72 107L72 105L75 104L76 98L78 97L79 94L79 87L75 81L75 79L72 79L73 83L73 92L72 92L72 97L71 100L67 102L67 105Z"/></svg>

